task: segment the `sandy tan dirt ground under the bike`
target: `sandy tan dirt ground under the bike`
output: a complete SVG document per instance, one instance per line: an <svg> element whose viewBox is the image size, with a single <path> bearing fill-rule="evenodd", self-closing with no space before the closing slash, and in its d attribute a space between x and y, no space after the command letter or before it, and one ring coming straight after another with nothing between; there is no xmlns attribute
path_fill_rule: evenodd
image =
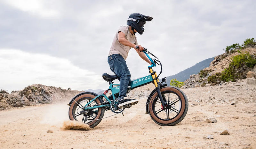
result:
<svg viewBox="0 0 256 149"><path fill-rule="evenodd" d="M186 117L175 126L159 126L145 114L146 98L106 119L93 130L62 130L66 102L0 111L1 148L256 148L255 86L184 89ZM231 86L232 87L232 86ZM208 89L211 91L209 92ZM234 90L234 91L233 91ZM214 96L212 101L209 97ZM234 100L225 101L227 98ZM220 100L218 101L218 98ZM234 98L235 99L235 98ZM241 99L241 100L240 100ZM199 102L198 102L198 101ZM201 101L200 101L201 100ZM222 101L221 101L222 100ZM218 101L218 102L217 102ZM106 111L104 117L113 115ZM217 123L207 123L206 118ZM52 133L47 133L52 130ZM229 135L220 135L228 130ZM211 136L210 136L211 135ZM203 139L210 136L212 139Z"/></svg>

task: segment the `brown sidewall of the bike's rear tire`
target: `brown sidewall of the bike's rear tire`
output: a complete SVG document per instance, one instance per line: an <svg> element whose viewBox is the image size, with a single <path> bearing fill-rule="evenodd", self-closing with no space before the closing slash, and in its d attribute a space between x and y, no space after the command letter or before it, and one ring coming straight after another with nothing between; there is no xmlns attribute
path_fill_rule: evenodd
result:
<svg viewBox="0 0 256 149"><path fill-rule="evenodd" d="M92 95L92 94L83 94L83 95L78 96L78 97L75 99L75 101L78 102L80 99L82 99L82 98L88 98L88 97L91 98L91 99L93 99L93 98L95 98L96 96L95 96L95 95ZM75 116L73 115L73 110L74 110L73 108L74 108L74 106L76 105L76 102L75 102L75 101L73 101L73 102L71 103L71 105L69 106L68 116L69 116L69 119L70 119L70 120L76 120ZM96 101L97 104L100 103L99 98L95 99L95 101ZM99 105L101 105L101 104L99 104ZM95 119L99 119L100 117L102 118L103 115L104 115L104 113L103 113L103 115L101 116L102 112L105 112L105 109L104 109L104 108L98 108L98 114L96 115L96 118L95 118ZM96 120L96 121L92 121L92 122L87 123L87 124L91 127L93 124L96 124L96 123L97 123L96 125L98 125L98 124L100 123L100 121L101 121L101 120ZM95 126L96 126L96 125L95 125ZM93 126L93 127L95 127L95 126ZM91 128L92 128L92 127L91 127Z"/></svg>

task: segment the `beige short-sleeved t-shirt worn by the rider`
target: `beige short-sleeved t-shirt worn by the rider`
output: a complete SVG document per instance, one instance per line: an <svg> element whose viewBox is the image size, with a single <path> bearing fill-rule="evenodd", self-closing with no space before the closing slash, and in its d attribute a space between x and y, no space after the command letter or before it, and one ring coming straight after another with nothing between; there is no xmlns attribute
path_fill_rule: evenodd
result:
<svg viewBox="0 0 256 149"><path fill-rule="evenodd" d="M110 50L108 52L108 56L111 56L113 54L120 54L121 56L124 57L124 60L127 58L128 56L128 52L130 51L130 49L132 47L129 46L125 46L122 43L120 43L118 41L118 32L121 31L125 34L125 39L127 39L128 41L132 42L133 44L137 45L137 38L135 35L132 35L129 32L129 26L121 26L118 31L116 32L116 35L113 39L112 45L110 47Z"/></svg>

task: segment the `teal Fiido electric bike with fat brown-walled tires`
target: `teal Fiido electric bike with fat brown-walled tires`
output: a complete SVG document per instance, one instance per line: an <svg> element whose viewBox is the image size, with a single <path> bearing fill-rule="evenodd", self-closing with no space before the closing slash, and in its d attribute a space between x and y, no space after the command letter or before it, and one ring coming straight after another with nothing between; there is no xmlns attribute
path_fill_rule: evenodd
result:
<svg viewBox="0 0 256 149"><path fill-rule="evenodd" d="M134 88L153 83L156 88L148 96L146 114L149 114L151 119L161 126L170 126L180 123L188 111L187 96L180 88L167 86L166 78L162 78L160 82L158 77L162 73L161 62L146 48L144 48L142 52L146 54L152 63L152 65L148 66L150 74L129 82L127 93ZM155 58L152 59L148 54ZM156 71L152 69L156 67L156 64L161 66L161 71L158 76ZM119 84L114 84L113 82L118 79L118 76L103 73L102 77L108 82L109 88L101 95L93 92L83 92L72 98L68 103L68 117L70 120L87 123L93 128L101 122L105 111L111 110L113 113L118 114L122 113L125 108L131 107L129 104L124 108L118 107L117 98L119 95ZM108 91L111 91L111 94L107 96Z"/></svg>

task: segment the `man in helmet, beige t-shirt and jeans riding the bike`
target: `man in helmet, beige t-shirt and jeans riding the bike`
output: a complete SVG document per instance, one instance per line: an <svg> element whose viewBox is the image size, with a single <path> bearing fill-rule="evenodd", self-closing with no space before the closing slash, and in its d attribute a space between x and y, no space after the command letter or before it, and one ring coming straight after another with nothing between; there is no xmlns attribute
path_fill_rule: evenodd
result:
<svg viewBox="0 0 256 149"><path fill-rule="evenodd" d="M125 59L127 58L130 49L134 48L143 60L148 62L150 65L152 64L148 57L143 52L140 52L144 48L138 44L135 35L137 32L142 34L144 32L144 24L146 24L146 21L151 21L152 19L152 17L145 16L141 13L132 13L127 20L128 26L119 27L110 47L108 53L108 64L110 70L118 76L120 81L118 97L119 108L124 108L127 105L134 105L139 102L137 99L124 99L124 97L126 97L128 83L131 81L131 74ZM139 48L137 49L136 46Z"/></svg>

